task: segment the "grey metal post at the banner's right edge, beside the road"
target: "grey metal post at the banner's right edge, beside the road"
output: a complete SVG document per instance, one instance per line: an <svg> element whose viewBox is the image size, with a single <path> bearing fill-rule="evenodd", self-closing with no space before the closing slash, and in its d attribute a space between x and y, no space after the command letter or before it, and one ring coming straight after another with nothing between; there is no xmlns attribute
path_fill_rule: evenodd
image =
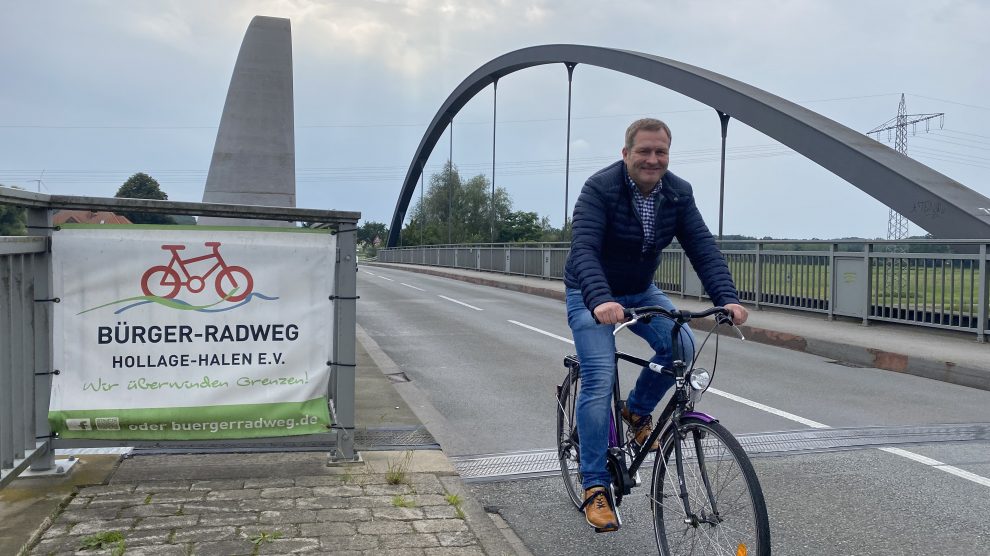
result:
<svg viewBox="0 0 990 556"><path fill-rule="evenodd" d="M337 447L331 460L353 460L354 455L354 374L355 325L357 323L357 265L355 264L354 224L340 224L337 229L337 271L333 303L333 408L337 429Z"/></svg>

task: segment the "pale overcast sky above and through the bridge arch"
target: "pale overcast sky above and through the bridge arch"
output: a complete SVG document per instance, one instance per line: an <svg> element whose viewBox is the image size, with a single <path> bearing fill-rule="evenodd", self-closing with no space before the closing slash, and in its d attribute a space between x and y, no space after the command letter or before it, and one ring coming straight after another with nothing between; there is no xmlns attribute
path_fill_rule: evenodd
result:
<svg viewBox="0 0 990 556"><path fill-rule="evenodd" d="M234 61L252 17L291 20L298 206L388 224L416 147L471 72L527 46L635 50L715 71L868 131L944 112L909 154L990 196L990 2L0 0L0 183L112 196L135 172L202 200ZM499 82L496 184L514 209L564 213L563 65ZM615 72L574 73L569 201L617 160L641 116L666 120L670 170L715 230L719 123L690 98ZM892 137L892 136L891 136ZM462 175L490 174L492 92L455 118ZM886 134L882 136L887 140ZM891 139L891 146L893 141ZM725 233L885 237L887 208L765 135L732 122ZM447 158L445 136L427 173ZM41 179L41 185L35 180ZM418 199L419 192L416 192ZM912 225L912 234L923 233Z"/></svg>

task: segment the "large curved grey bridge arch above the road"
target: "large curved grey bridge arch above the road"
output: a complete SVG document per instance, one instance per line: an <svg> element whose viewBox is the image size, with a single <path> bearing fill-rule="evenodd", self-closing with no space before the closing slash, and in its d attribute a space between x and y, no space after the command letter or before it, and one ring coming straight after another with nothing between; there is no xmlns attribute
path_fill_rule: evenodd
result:
<svg viewBox="0 0 990 556"><path fill-rule="evenodd" d="M437 111L406 172L389 228L395 247L423 167L447 125L501 77L533 66L588 64L700 101L787 145L940 239L990 238L990 199L863 133L741 81L641 52L557 44L499 56L469 75Z"/></svg>

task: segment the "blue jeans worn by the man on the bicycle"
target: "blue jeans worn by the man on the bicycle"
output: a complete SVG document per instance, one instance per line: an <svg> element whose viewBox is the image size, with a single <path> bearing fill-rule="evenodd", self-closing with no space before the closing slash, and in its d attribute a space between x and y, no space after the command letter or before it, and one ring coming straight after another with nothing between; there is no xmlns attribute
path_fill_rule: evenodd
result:
<svg viewBox="0 0 990 556"><path fill-rule="evenodd" d="M638 294L615 298L623 307L660 305L674 309L667 295L654 285ZM608 450L609 411L615 380L615 325L597 324L585 307L581 291L567 288L567 324L574 336L578 361L581 363L581 387L577 399L578 441L581 443L581 476L584 488L608 485L611 482L605 467ZM648 324L637 323L629 330L646 340L655 355L654 363L669 366L673 352L670 345L670 319L657 317ZM684 357L690 363L694 351L694 335L685 326L681 329ZM636 386L626 403L635 415L649 415L674 384L674 379L643 367Z"/></svg>

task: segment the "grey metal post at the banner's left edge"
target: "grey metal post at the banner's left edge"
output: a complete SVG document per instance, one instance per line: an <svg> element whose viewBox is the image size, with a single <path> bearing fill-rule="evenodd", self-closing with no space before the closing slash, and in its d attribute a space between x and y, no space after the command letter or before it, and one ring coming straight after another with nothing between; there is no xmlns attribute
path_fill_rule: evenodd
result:
<svg viewBox="0 0 990 556"><path fill-rule="evenodd" d="M55 297L52 279L52 211L47 208L28 209L27 225L29 236L48 238L48 249L35 257L33 269L34 298L53 299ZM51 303L34 304L34 364L35 373L54 371L54 332L53 309ZM43 442L39 453L31 462L32 471L48 471L55 468L55 450L52 449L51 428L48 426L48 404L52 392L52 375L34 376L34 436Z"/></svg>

